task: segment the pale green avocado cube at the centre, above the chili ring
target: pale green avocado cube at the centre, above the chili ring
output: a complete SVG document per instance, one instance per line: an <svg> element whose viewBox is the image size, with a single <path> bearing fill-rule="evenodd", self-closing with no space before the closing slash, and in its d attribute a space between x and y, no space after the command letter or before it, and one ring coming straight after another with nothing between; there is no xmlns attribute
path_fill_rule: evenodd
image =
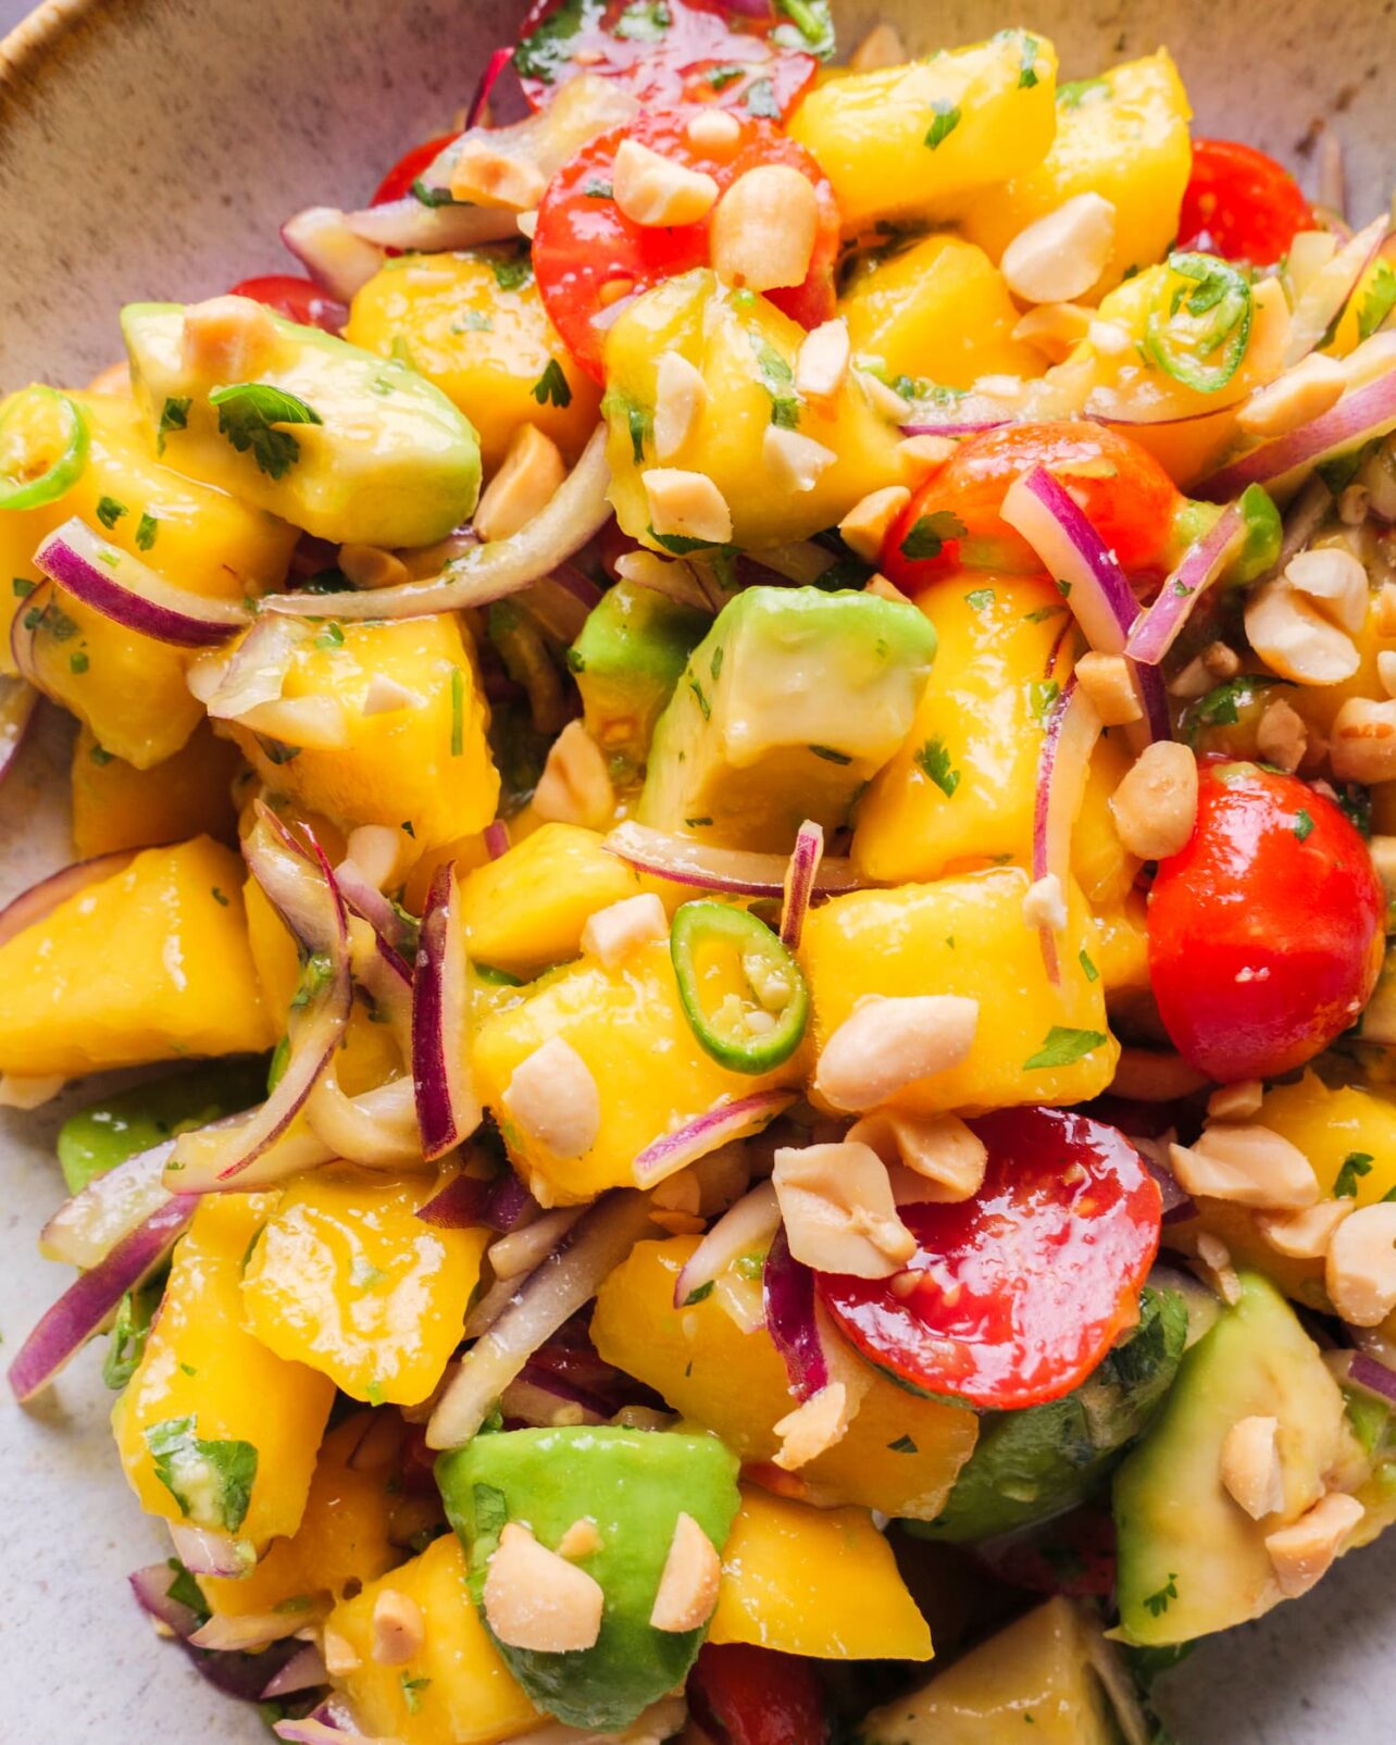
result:
<svg viewBox="0 0 1396 1745"><path fill-rule="evenodd" d="M839 829L911 731L934 656L902 600L747 588L660 715L640 824L773 853L804 818Z"/></svg>

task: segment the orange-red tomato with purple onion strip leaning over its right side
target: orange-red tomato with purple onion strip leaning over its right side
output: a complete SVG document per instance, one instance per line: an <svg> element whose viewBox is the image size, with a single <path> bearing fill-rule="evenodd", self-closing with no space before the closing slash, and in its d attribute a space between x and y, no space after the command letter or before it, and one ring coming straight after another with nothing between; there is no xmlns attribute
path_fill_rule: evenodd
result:
<svg viewBox="0 0 1396 1745"><path fill-rule="evenodd" d="M961 443L888 530L881 571L906 593L961 569L1031 574L1037 553L998 515L1040 464L1071 494L1131 576L1164 576L1183 497L1152 454L1103 424L1003 424Z"/></svg>

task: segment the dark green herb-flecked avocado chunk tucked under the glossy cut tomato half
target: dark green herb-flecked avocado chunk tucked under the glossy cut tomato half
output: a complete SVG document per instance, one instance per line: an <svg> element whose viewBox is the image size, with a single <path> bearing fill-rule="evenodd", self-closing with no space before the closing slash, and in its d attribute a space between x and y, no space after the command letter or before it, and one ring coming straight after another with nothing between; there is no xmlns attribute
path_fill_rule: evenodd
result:
<svg viewBox="0 0 1396 1745"><path fill-rule="evenodd" d="M986 1413L941 1516L909 1522L925 1539L989 1539L1084 1502L1148 1429L1178 1373L1188 1310L1146 1290L1134 1333L1064 1399Z"/></svg>

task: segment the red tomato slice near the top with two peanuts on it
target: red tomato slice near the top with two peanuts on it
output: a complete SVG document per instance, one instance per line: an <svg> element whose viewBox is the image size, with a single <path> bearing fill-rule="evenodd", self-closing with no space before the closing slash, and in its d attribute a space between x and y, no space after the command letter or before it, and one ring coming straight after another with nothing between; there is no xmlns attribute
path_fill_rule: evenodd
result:
<svg viewBox="0 0 1396 1745"><path fill-rule="evenodd" d="M705 169L719 188L757 164L790 164L815 187L820 227L803 284L770 291L770 298L801 326L815 328L834 312L834 260L839 251L839 209L818 164L778 127L740 117L742 140L715 157L696 150L684 131L695 112L640 115L593 140L548 183L534 232L534 274L553 326L578 363L602 379L606 328L623 298L661 279L708 263L708 220L668 229L632 223L611 197L611 176L621 140L639 140L653 152ZM600 318L600 319L599 319Z"/></svg>

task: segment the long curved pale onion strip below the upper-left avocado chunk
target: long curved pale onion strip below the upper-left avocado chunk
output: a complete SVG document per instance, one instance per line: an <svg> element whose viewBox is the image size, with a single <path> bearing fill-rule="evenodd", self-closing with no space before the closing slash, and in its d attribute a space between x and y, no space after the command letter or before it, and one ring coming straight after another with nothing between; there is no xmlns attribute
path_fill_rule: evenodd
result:
<svg viewBox="0 0 1396 1745"><path fill-rule="evenodd" d="M609 483L602 422L544 510L508 539L492 539L466 551L441 576L363 593L272 593L262 600L262 609L298 618L426 618L503 600L550 576L600 532L611 518L606 499Z"/></svg>

